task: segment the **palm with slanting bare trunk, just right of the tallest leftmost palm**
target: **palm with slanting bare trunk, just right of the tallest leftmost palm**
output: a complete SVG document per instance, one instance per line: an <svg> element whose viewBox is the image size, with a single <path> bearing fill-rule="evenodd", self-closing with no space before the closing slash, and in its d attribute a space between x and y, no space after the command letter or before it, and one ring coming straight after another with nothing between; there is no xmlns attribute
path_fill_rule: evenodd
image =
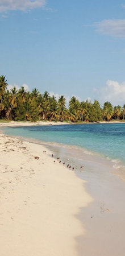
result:
<svg viewBox="0 0 125 256"><path fill-rule="evenodd" d="M11 89L11 92L10 92L10 97L9 97L10 109L6 113L7 119L9 119L9 115L10 115L11 109L12 108L16 108L16 106L17 106L17 99L18 99L18 90L16 90L16 88L14 86L14 88Z"/></svg>

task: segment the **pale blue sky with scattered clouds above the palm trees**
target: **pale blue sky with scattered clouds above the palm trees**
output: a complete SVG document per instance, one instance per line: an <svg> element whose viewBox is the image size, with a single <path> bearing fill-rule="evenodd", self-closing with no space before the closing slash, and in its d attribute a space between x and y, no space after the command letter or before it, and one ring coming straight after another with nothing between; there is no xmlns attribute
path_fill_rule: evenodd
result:
<svg viewBox="0 0 125 256"><path fill-rule="evenodd" d="M125 104L125 0L0 0L9 89Z"/></svg>

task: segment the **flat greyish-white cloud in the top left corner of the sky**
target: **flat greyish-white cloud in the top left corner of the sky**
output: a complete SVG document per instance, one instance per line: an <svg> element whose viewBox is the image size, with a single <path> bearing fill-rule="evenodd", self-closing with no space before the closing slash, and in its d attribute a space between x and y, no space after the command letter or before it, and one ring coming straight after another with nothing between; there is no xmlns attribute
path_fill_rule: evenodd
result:
<svg viewBox="0 0 125 256"><path fill-rule="evenodd" d="M32 10L45 6L46 0L0 0L0 12L8 10Z"/></svg>

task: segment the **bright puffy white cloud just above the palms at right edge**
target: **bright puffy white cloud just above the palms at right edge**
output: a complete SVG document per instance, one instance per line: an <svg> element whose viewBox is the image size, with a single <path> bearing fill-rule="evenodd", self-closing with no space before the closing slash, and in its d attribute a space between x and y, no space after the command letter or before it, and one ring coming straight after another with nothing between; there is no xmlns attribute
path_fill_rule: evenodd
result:
<svg viewBox="0 0 125 256"><path fill-rule="evenodd" d="M106 85L100 89L94 88L99 96L99 101L103 104L105 101L110 101L114 106L125 104L125 81L121 84L116 81L108 80Z"/></svg>

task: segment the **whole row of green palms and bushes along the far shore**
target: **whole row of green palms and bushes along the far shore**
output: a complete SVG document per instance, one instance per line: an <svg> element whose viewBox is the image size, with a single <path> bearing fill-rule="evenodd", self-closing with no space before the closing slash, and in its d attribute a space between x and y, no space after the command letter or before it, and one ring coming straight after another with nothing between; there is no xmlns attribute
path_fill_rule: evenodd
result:
<svg viewBox="0 0 125 256"><path fill-rule="evenodd" d="M48 92L41 94L38 89L28 92L21 87L7 90L5 76L0 76L0 122L14 121L65 121L65 122L98 122L124 120L125 104L123 107L105 102L103 108L97 100L79 102L74 96L66 108L66 100L61 96L49 96Z"/></svg>

